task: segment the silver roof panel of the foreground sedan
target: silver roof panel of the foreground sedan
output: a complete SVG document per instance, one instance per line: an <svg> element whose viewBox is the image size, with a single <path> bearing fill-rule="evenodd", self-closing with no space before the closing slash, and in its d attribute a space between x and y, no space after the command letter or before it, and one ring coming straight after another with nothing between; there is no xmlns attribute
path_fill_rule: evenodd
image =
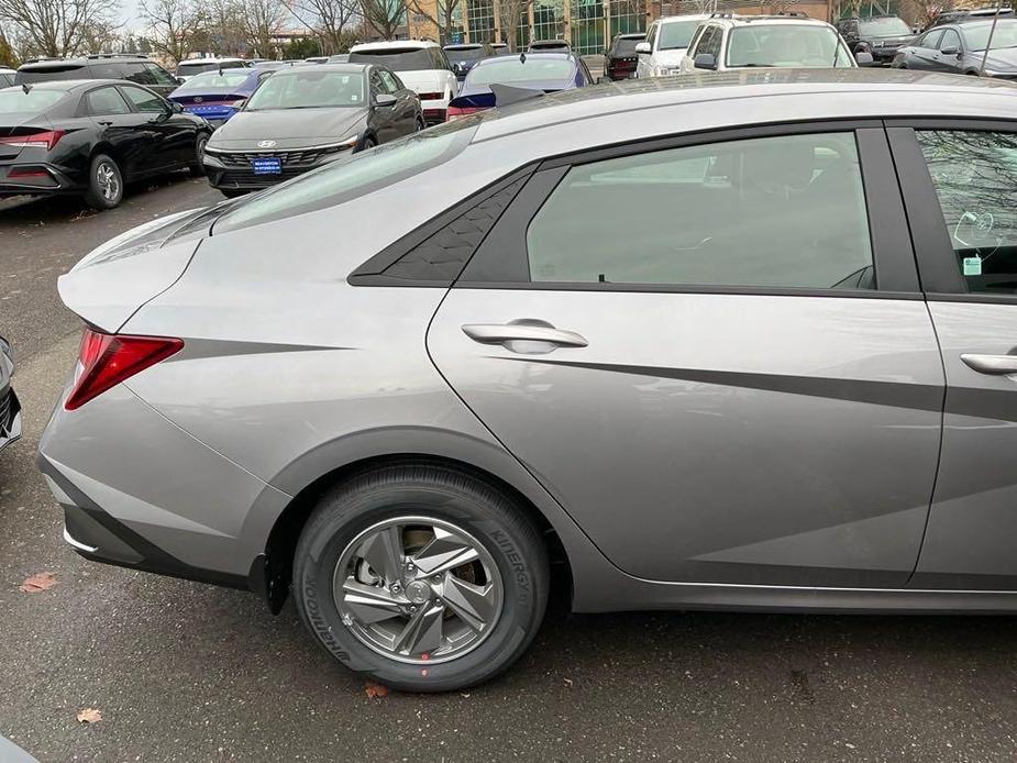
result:
<svg viewBox="0 0 1017 763"><path fill-rule="evenodd" d="M479 66L479 64L478 64ZM681 106L683 113L694 113L686 104L703 103L720 110L730 126L765 121L786 121L787 104L807 103L808 120L850 117L930 117L963 115L977 111L997 119L1017 118L1017 85L985 77L959 77L910 69L762 69L721 74L689 74L682 77L630 79L607 85L577 88L562 93L534 98L504 109L478 114L479 128L474 142L526 132L528 130L572 125L584 120L595 132L597 122L638 125L653 131L654 121L645 119L654 109ZM958 104L964 97L968 106ZM854 106L858 103L859 106ZM639 111L640 119L631 119ZM762 114L772 112L772 118ZM856 112L856 113L853 113ZM619 120L611 118L619 117ZM799 118L802 119L802 118ZM687 128L693 129L693 128ZM683 132L683 128L671 132ZM617 132L621 132L618 130ZM626 140L618 137L617 140Z"/></svg>

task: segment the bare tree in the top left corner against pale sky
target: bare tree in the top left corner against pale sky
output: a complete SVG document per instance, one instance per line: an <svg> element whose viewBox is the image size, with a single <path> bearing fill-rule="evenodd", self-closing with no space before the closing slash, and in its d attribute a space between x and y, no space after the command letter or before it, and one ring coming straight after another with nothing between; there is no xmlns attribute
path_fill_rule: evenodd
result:
<svg viewBox="0 0 1017 763"><path fill-rule="evenodd" d="M118 9L118 0L0 0L0 22L30 53L69 56L85 49L88 29L115 29Z"/></svg>

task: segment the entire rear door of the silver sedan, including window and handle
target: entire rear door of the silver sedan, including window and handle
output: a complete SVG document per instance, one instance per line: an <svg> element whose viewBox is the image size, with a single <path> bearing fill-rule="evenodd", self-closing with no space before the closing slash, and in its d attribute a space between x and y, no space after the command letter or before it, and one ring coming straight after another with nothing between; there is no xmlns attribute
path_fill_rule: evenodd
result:
<svg viewBox="0 0 1017 763"><path fill-rule="evenodd" d="M629 574L913 573L944 385L878 122L545 163L428 346Z"/></svg>

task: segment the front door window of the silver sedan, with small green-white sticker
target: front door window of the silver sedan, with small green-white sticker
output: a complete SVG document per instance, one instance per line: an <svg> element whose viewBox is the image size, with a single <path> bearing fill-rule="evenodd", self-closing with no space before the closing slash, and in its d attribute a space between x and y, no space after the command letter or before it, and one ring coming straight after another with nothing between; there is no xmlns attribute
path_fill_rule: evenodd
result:
<svg viewBox="0 0 1017 763"><path fill-rule="evenodd" d="M1017 294L1017 134L915 134L968 290Z"/></svg>

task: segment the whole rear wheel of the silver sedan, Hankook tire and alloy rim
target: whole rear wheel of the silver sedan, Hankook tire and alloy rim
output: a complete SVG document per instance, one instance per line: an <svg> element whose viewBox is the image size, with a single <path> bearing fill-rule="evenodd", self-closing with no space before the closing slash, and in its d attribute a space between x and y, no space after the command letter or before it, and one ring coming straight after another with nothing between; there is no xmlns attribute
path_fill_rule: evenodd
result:
<svg viewBox="0 0 1017 763"><path fill-rule="evenodd" d="M402 549L384 553L395 548L386 539ZM453 567L435 544L458 549L452 559L467 563ZM548 575L541 535L513 499L468 472L406 463L363 473L321 499L297 544L292 589L303 624L347 668L395 689L449 692L488 681L526 651L544 616ZM455 605L464 589L485 591L466 617ZM471 627L478 612L480 626ZM397 651L379 645L374 629L397 643L398 634L420 638Z"/></svg>

